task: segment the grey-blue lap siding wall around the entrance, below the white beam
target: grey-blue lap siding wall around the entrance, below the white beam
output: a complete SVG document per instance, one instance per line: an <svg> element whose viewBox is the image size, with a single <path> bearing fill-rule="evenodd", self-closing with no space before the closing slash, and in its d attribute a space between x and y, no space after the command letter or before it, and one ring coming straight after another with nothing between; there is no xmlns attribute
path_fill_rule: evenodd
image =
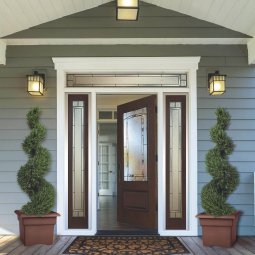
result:
<svg viewBox="0 0 255 255"><path fill-rule="evenodd" d="M44 146L52 154L51 171L46 179L56 186L56 72L52 57L86 56L202 56L198 70L198 195L210 176L204 156L213 144L209 129L215 123L216 107L227 107L232 116L229 135L236 148L230 161L240 172L240 185L229 198L243 211L239 234L254 235L253 172L255 170L255 70L247 65L245 46L9 46L7 66L0 68L0 233L18 233L13 210L27 201L16 183L19 167L27 160L21 143L29 130L25 114L34 106L42 109L42 122L48 136ZM34 69L47 74L47 92L34 98L26 93L25 76ZM211 97L207 73L220 70L228 75L225 95ZM202 211L200 198L198 210ZM199 228L199 233L201 230Z"/></svg>

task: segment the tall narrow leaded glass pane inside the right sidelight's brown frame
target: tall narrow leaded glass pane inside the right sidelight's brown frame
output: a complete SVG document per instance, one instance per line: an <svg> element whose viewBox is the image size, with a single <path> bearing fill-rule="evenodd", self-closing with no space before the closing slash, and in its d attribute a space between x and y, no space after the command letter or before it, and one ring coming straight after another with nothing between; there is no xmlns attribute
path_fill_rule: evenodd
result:
<svg viewBox="0 0 255 255"><path fill-rule="evenodd" d="M182 122L181 102L171 102L170 105L170 168L169 168L169 203L170 218L182 218Z"/></svg>

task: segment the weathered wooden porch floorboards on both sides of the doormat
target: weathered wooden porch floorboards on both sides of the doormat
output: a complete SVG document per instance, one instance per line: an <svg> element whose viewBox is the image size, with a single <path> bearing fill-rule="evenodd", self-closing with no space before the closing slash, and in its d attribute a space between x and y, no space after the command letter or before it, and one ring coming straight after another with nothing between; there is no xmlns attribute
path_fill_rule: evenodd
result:
<svg viewBox="0 0 255 255"><path fill-rule="evenodd" d="M179 237L191 254L195 255L251 255L255 254L255 237L241 237L232 248L204 247L200 237ZM0 255L59 255L75 236L58 236L54 245L25 247L16 236L0 236Z"/></svg>

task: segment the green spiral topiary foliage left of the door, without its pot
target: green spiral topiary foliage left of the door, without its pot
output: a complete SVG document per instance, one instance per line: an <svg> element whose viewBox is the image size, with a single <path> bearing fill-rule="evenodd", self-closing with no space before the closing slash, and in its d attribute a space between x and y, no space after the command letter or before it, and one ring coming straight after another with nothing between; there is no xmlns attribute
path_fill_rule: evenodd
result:
<svg viewBox="0 0 255 255"><path fill-rule="evenodd" d="M49 171L50 153L41 146L46 136L46 129L39 122L39 117L39 108L33 108L27 114L31 132L22 146L28 154L28 162L18 172L18 183L31 200L21 209L26 215L47 214L55 203L54 188L43 178Z"/></svg>

